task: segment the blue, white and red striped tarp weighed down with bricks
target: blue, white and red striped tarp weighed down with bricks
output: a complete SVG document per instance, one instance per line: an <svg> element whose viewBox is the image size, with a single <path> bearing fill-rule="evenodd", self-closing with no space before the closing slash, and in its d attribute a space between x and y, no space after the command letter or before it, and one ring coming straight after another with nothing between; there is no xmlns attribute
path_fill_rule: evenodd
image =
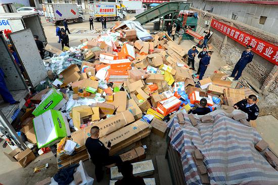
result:
<svg viewBox="0 0 278 185"><path fill-rule="evenodd" d="M192 152L199 149L204 156L211 184L278 184L278 172L264 159L254 145L262 140L253 127L248 127L213 112L213 123L179 125L177 116L169 122L170 145L181 155L187 184L201 184ZM200 116L196 116L197 119Z"/></svg>

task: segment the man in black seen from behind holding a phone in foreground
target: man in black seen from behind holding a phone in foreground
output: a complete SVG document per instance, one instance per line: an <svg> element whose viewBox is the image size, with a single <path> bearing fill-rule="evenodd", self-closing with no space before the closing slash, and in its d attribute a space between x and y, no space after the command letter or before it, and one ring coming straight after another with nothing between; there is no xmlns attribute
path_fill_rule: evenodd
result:
<svg viewBox="0 0 278 185"><path fill-rule="evenodd" d="M87 138L85 146L90 155L92 163L95 164L95 174L97 181L100 182L103 178L102 167L116 163L120 172L122 160L119 156L109 156L111 148L106 148L99 140L100 128L93 126L90 129L90 137Z"/></svg>

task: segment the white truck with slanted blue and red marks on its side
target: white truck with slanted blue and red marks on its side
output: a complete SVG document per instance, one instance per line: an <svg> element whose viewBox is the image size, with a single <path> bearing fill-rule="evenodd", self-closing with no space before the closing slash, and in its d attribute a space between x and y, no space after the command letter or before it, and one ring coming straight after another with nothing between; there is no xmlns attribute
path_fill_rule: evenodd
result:
<svg viewBox="0 0 278 185"><path fill-rule="evenodd" d="M85 19L82 9L75 4L50 4L42 5L44 17L49 23L63 25L62 22L66 19L68 22L80 22Z"/></svg>

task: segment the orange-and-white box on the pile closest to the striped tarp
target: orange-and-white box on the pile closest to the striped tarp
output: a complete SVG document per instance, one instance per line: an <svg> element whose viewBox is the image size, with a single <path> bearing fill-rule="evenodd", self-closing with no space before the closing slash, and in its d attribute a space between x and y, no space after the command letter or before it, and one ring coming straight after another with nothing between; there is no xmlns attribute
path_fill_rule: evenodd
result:
<svg viewBox="0 0 278 185"><path fill-rule="evenodd" d="M181 104L181 101L176 97L171 97L166 100L160 101L157 105L157 110L164 116L176 111Z"/></svg>

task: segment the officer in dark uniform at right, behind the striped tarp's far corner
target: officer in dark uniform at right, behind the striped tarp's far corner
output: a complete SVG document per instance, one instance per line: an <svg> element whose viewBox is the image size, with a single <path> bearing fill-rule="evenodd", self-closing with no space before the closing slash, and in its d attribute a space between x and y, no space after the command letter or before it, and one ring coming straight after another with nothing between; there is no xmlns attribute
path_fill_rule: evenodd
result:
<svg viewBox="0 0 278 185"><path fill-rule="evenodd" d="M256 105L257 97L255 95L249 95L248 99L244 99L239 101L234 105L234 108L242 110L243 112L248 114L247 121L257 119L259 115L259 108Z"/></svg>

